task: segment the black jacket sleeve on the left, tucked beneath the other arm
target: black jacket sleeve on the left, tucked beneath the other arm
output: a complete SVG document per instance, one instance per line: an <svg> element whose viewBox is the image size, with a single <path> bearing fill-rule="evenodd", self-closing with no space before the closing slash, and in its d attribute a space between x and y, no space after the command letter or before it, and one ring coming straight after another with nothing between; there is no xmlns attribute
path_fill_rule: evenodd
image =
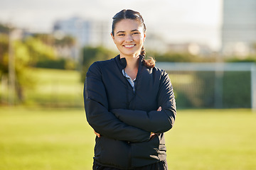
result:
<svg viewBox="0 0 256 170"><path fill-rule="evenodd" d="M129 142L146 142L150 132L127 125L108 111L107 95L97 63L87 72L84 89L87 122L100 135Z"/></svg>

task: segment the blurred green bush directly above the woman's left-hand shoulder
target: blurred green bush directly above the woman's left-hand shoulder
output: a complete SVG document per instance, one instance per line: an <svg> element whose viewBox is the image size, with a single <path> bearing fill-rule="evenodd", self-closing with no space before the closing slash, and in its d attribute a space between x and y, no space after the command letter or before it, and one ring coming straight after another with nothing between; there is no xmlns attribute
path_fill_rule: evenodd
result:
<svg viewBox="0 0 256 170"><path fill-rule="evenodd" d="M84 47L82 49L82 73L81 81L85 81L87 70L93 62L109 60L117 55L116 52L107 50L105 47Z"/></svg>

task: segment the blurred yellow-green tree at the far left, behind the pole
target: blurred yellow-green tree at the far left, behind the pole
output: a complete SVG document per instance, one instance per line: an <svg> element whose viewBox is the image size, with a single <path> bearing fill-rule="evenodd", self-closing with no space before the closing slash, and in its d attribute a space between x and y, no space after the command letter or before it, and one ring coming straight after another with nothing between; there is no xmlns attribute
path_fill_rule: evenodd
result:
<svg viewBox="0 0 256 170"><path fill-rule="evenodd" d="M38 61L55 59L53 47L43 43L40 38L31 36L21 40L11 40L9 34L14 28L0 24L0 81L9 77L9 48L14 55L15 91L18 101L24 101L24 90L33 87L35 81L31 77L31 69ZM11 42L9 42L11 40ZM10 80L9 80L10 81Z"/></svg>

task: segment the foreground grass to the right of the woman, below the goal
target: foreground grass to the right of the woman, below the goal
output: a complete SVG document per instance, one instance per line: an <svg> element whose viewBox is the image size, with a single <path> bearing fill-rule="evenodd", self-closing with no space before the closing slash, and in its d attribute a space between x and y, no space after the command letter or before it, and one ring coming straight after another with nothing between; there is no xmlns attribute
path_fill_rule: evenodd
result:
<svg viewBox="0 0 256 170"><path fill-rule="evenodd" d="M255 169L256 113L250 110L179 111L166 134L171 169Z"/></svg>

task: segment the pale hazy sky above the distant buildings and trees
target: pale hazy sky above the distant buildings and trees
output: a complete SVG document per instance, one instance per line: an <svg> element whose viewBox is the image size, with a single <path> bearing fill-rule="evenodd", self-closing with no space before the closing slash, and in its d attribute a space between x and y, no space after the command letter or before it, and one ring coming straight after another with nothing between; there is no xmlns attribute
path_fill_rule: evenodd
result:
<svg viewBox="0 0 256 170"><path fill-rule="evenodd" d="M0 22L48 32L54 21L72 16L111 22L123 8L142 13L147 32L168 42L220 47L222 0L1 0Z"/></svg>

